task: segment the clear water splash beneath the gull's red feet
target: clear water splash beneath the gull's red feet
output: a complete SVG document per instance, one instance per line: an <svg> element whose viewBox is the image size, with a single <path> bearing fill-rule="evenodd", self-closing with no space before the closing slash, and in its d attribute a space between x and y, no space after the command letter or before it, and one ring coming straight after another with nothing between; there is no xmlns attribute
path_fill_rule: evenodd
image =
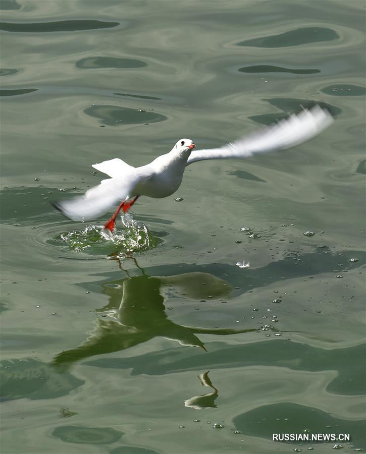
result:
<svg viewBox="0 0 366 454"><path fill-rule="evenodd" d="M122 228L114 233L107 233L102 225L90 224L83 230L75 230L61 234L57 239L69 245L69 248L81 252L118 252L119 255L145 251L161 243L141 222L135 221L130 214L121 216ZM90 251L91 252L91 251Z"/></svg>

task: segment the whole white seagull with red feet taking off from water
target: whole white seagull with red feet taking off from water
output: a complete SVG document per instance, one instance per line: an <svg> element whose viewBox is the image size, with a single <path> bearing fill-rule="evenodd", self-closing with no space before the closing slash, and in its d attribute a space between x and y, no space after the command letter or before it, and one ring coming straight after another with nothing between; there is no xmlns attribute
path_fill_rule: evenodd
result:
<svg viewBox="0 0 366 454"><path fill-rule="evenodd" d="M70 219L84 221L95 219L118 204L113 216L104 224L104 229L112 233L119 212L126 213L140 196L161 199L174 194L182 183L187 165L205 159L247 158L255 153L291 148L317 136L332 122L329 111L315 105L220 148L193 150L195 144L191 139L180 139L169 153L141 167L133 167L119 158L92 164L110 178L87 190L83 196L53 205Z"/></svg>

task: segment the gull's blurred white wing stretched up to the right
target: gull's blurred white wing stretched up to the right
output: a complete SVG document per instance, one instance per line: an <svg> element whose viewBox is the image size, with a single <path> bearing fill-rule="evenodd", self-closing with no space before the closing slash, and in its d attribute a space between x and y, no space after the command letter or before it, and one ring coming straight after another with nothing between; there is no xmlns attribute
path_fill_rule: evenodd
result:
<svg viewBox="0 0 366 454"><path fill-rule="evenodd" d="M193 150L187 165L203 159L246 158L254 153L284 150L306 142L333 123L328 110L319 105L304 109L297 115L263 129L249 137L224 145L221 148Z"/></svg>

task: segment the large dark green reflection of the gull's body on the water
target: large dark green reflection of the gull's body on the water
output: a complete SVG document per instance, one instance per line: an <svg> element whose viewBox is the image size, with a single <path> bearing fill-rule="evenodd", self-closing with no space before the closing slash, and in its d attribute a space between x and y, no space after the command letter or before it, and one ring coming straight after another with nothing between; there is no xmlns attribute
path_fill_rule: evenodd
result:
<svg viewBox="0 0 366 454"><path fill-rule="evenodd" d="M207 297L207 292L216 297L228 296L230 286L222 279L203 272L190 272L175 276L149 276L135 261L141 275L130 276L102 285L102 294L108 295L109 304L97 312L108 312L98 317L96 326L86 341L77 348L64 351L54 358L55 365L70 365L90 356L119 352L147 342L154 337L164 337L179 344L200 347L206 350L196 334L230 335L257 329L219 329L179 325L171 321L164 305L174 289L186 298ZM202 283L205 285L202 286ZM206 290L203 290L206 289ZM121 300L122 297L122 300Z"/></svg>

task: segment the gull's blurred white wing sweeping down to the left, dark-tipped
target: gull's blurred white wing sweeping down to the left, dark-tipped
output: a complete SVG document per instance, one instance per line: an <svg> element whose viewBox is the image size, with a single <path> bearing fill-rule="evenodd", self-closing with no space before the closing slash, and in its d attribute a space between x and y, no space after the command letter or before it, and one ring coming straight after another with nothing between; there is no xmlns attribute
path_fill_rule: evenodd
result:
<svg viewBox="0 0 366 454"><path fill-rule="evenodd" d="M152 177L151 169L133 169L133 172L123 177L109 178L102 180L100 185L86 191L83 196L76 196L73 199L62 200L53 203L55 208L72 220L89 220L99 217L109 208L130 198L134 194L134 188L141 180Z"/></svg>

